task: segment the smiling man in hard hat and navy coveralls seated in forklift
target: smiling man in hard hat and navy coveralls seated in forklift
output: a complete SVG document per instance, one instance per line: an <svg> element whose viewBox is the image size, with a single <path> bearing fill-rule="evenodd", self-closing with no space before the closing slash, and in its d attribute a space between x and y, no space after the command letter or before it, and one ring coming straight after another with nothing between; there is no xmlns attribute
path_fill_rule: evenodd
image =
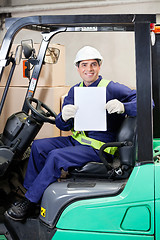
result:
<svg viewBox="0 0 160 240"><path fill-rule="evenodd" d="M81 167L88 162L101 162L98 152L100 145L116 140L116 133L125 118L136 116L136 91L99 75L103 58L91 46L81 48L75 58L75 65L82 82L73 86L64 99L62 112L56 117L56 126L64 131L74 128L77 106L74 105L74 87L106 87L107 131L74 132L68 137L54 137L35 140L32 144L24 187L25 197L13 204L6 215L14 220L23 220L41 200L49 184L57 181L61 170ZM85 144L84 144L85 142ZM114 156L109 149L108 159Z"/></svg>

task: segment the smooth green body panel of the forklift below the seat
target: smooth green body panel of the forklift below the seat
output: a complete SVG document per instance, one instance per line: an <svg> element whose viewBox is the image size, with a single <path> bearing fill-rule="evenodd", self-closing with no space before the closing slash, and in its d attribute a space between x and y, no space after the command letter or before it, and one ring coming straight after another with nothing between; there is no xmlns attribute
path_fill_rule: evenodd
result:
<svg viewBox="0 0 160 240"><path fill-rule="evenodd" d="M53 239L154 239L154 168L135 167L118 196L69 205Z"/></svg>

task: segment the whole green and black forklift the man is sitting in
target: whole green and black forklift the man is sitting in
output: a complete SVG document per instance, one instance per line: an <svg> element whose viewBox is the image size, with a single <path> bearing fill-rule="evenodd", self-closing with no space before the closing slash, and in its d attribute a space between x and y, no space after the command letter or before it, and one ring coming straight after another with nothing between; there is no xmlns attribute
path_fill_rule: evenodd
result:
<svg viewBox="0 0 160 240"><path fill-rule="evenodd" d="M33 72L22 110L8 118L0 135L0 240L160 239L159 20L156 14L6 19L7 32L0 49L0 80L6 66L11 64L11 70L0 113L22 51L33 65ZM22 29L41 32L37 56L34 48L26 44L18 46L15 55L10 53L14 37ZM56 34L82 31L134 32L137 117L126 117L117 141L101 147L101 163L93 160L82 168L70 169L66 178L48 186L31 217L22 222L11 220L4 216L8 199L13 196L10 175L16 172L19 184L23 185L22 169L25 170L27 149L45 122L55 123L56 113L34 98L49 42ZM118 148L118 165L105 158L104 150L112 146ZM7 193L6 187L9 188Z"/></svg>

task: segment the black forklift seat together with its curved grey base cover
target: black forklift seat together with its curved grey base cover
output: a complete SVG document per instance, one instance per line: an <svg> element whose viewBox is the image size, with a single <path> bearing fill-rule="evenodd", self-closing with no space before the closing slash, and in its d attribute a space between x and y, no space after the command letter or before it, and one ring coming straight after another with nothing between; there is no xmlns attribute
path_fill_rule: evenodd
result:
<svg viewBox="0 0 160 240"><path fill-rule="evenodd" d="M118 144L129 143L119 147L119 169L122 170L108 170L103 163L90 162L82 168L69 171L70 178L54 182L45 190L41 209L45 209L46 214L39 215L42 222L52 228L61 210L69 203L80 199L116 196L123 191L136 159L136 118L125 118L117 141Z"/></svg>

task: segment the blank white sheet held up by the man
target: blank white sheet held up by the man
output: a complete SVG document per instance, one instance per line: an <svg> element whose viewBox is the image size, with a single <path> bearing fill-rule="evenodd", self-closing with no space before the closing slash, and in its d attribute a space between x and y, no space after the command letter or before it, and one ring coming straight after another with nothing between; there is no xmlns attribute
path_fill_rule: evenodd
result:
<svg viewBox="0 0 160 240"><path fill-rule="evenodd" d="M78 110L74 118L74 130L106 131L105 103L105 87L75 87L74 104Z"/></svg>

